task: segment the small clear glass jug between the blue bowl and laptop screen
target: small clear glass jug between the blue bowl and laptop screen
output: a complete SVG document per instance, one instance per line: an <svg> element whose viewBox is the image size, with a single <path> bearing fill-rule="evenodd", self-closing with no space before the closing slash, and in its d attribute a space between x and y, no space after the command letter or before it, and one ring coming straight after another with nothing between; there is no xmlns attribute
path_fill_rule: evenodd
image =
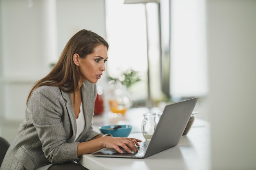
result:
<svg viewBox="0 0 256 170"><path fill-rule="evenodd" d="M141 123L141 131L146 141L150 141L155 132L156 113L145 113L143 114L143 116L144 116L144 119Z"/></svg>

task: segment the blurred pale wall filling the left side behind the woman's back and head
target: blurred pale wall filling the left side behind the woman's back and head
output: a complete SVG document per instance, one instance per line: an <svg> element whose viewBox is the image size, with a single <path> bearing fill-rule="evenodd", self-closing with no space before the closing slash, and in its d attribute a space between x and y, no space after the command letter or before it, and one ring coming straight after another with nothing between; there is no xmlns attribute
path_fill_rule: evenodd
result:
<svg viewBox="0 0 256 170"><path fill-rule="evenodd" d="M0 23L0 117L21 121L32 85L74 33L106 38L105 0L0 0Z"/></svg>

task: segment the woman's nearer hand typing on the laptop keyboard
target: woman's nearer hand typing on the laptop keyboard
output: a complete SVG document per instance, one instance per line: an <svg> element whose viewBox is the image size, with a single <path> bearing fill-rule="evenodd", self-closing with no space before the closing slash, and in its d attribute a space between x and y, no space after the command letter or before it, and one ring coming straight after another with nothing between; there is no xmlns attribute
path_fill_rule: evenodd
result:
<svg viewBox="0 0 256 170"><path fill-rule="evenodd" d="M131 150L133 152L138 152L138 149L136 146L139 146L138 142L141 142L141 140L135 139L135 138L110 137L110 136L103 137L102 140L103 140L103 148L115 149L119 153L123 153L123 150L121 150L121 148L124 148L124 150L126 150L128 153L131 153Z"/></svg>

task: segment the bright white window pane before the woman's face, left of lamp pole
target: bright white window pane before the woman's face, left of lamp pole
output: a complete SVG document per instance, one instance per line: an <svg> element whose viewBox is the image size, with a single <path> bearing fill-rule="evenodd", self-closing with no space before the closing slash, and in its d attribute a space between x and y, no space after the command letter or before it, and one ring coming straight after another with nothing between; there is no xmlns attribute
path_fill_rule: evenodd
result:
<svg viewBox="0 0 256 170"><path fill-rule="evenodd" d="M106 0L108 51L107 71L117 77L127 69L138 71L142 79L131 89L133 100L147 97L147 44L144 4L124 4Z"/></svg>

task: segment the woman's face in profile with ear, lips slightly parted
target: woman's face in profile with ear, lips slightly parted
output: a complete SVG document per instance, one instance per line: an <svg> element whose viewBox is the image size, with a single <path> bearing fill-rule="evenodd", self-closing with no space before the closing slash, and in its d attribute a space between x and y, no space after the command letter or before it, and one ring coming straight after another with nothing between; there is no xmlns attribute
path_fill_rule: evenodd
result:
<svg viewBox="0 0 256 170"><path fill-rule="evenodd" d="M108 49L104 45L98 45L94 48L92 54L81 58L78 54L74 54L73 61L79 67L80 85L88 80L91 83L97 83L105 71L105 62L108 59Z"/></svg>

